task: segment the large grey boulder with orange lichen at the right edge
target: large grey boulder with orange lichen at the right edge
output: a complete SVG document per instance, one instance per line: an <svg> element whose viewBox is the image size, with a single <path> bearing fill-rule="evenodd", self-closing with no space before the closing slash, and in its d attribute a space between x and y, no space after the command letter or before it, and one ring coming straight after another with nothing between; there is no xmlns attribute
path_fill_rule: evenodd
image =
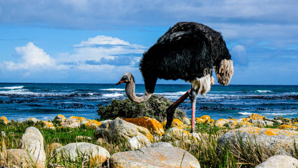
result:
<svg viewBox="0 0 298 168"><path fill-rule="evenodd" d="M241 138L241 139L240 139ZM243 148L260 148L262 156L268 158L273 155L289 155L295 157L294 140L298 148L298 131L287 131L280 129L261 129L258 127L242 127L240 129L226 132L219 139L218 153L221 147L228 147L235 155L240 155L242 149L238 147L242 140Z"/></svg>

